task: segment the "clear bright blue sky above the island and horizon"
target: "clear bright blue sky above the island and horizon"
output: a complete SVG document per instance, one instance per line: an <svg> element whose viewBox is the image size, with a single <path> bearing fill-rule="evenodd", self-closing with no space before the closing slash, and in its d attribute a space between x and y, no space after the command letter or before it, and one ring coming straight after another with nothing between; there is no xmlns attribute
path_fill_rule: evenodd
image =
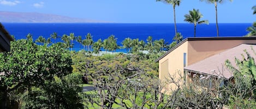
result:
<svg viewBox="0 0 256 109"><path fill-rule="evenodd" d="M252 23L255 0L225 0L218 5L219 23ZM215 7L200 0L183 0L176 8L177 23L193 8L202 20L215 23ZM39 12L116 23L174 23L172 6L156 0L0 0L0 11Z"/></svg>

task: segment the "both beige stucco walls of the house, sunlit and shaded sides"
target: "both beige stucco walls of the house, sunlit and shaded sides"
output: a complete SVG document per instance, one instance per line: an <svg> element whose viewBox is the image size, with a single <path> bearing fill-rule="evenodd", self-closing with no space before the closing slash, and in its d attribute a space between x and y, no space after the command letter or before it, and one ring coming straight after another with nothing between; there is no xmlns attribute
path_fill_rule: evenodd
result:
<svg viewBox="0 0 256 109"><path fill-rule="evenodd" d="M176 78L180 77L177 74L179 70L183 76L183 53L187 53L187 65L206 59L209 56L221 53L224 50L239 46L240 44L253 44L255 40L201 40L201 41L186 41L172 50L168 55L159 60L159 79L166 82L169 74ZM166 67L168 66L168 67ZM183 84L183 81L180 81ZM176 89L174 84L166 84L162 92Z"/></svg>

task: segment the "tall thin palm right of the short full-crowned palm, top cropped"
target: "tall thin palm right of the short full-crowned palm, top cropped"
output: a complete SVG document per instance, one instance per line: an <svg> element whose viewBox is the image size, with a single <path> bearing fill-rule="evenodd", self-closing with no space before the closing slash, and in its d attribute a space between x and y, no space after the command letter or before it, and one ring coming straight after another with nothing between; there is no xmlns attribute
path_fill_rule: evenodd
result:
<svg viewBox="0 0 256 109"><path fill-rule="evenodd" d="M218 3L223 3L223 2L224 2L224 0L200 0L200 1L206 1L207 3L215 4L217 37L219 37L218 11L217 11L217 6L218 6ZM229 1L230 1L230 2L232 2L233 0L229 0Z"/></svg>

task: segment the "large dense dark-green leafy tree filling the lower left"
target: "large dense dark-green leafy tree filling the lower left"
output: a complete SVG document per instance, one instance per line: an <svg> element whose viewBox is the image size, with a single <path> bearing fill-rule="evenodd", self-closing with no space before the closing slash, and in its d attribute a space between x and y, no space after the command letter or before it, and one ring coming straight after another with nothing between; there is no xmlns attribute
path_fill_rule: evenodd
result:
<svg viewBox="0 0 256 109"><path fill-rule="evenodd" d="M72 59L61 43L47 47L32 39L17 40L11 43L11 51L0 53L0 57L1 108L9 108L15 101L23 108L70 108L81 103L79 82L71 81L78 79L72 77Z"/></svg>

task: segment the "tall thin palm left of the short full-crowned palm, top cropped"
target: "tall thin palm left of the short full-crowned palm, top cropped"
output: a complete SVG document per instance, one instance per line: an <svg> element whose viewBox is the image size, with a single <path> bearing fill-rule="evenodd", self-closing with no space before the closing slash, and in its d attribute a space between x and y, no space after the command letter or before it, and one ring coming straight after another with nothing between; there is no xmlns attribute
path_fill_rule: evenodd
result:
<svg viewBox="0 0 256 109"><path fill-rule="evenodd" d="M175 16L175 7L180 6L181 0L157 0L167 4L171 4L172 8L174 9L174 29L175 29L175 36L177 35L177 27L176 27L176 16Z"/></svg>

